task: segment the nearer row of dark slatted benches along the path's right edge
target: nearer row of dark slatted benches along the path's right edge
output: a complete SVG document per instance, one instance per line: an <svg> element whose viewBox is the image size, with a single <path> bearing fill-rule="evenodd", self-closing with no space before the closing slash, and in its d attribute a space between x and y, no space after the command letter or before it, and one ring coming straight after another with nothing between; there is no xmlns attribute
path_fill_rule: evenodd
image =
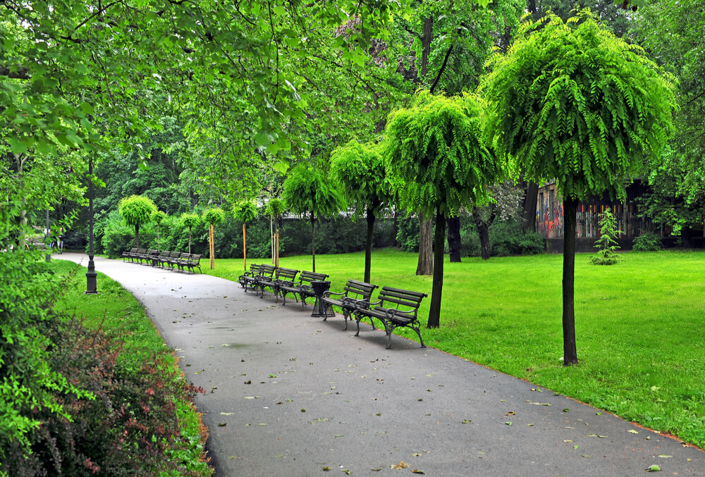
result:
<svg viewBox="0 0 705 477"><path fill-rule="evenodd" d="M298 276L297 276L298 275ZM324 290L330 282L326 282L328 275L324 273L314 273L309 271L298 271L293 268L275 267L267 264L250 266L250 271L240 275L238 281L245 288L259 290L260 297L264 297L264 289L269 288L276 296L279 296L286 305L286 295L289 293L296 299L298 295L301 299L302 307L309 297L316 297L315 306L319 309L317 315L323 316L324 321L335 316L333 306L341 309L345 320L345 330L348 329L348 320L357 323L357 333L360 336L360 321L369 319L372 328L374 320L378 320L384 328L389 340L387 348L391 348L392 333L396 328L411 328L419 336L421 347L425 348L424 340L421 336L421 326L418 318L419 306L426 293L413 292L411 290L401 290L400 288L381 287L377 294L376 301L372 301L372 293L379 285L365 283L352 278L345 283L342 292L331 292Z"/></svg>

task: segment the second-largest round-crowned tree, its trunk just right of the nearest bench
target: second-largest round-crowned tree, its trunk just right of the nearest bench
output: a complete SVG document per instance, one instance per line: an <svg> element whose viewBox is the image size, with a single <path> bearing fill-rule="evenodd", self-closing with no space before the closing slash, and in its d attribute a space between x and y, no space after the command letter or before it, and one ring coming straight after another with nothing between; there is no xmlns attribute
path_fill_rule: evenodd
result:
<svg viewBox="0 0 705 477"><path fill-rule="evenodd" d="M436 217L429 328L441 322L446 219L461 206L483 204L503 168L482 140L482 103L471 94L432 96L422 91L410 109L391 113L386 128L387 169L405 184L398 194L408 209Z"/></svg>

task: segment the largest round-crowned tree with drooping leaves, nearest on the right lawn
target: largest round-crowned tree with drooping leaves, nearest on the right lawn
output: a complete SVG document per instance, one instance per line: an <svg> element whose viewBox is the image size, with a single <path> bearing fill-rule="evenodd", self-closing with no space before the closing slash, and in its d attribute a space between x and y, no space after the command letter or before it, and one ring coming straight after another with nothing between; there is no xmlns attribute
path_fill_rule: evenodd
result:
<svg viewBox="0 0 705 477"><path fill-rule="evenodd" d="M624 183L658 158L673 128L670 82L644 51L615 37L589 11L563 23L527 23L498 56L483 89L488 131L532 180L556 179L563 197L563 362L575 345L575 220L580 199Z"/></svg>

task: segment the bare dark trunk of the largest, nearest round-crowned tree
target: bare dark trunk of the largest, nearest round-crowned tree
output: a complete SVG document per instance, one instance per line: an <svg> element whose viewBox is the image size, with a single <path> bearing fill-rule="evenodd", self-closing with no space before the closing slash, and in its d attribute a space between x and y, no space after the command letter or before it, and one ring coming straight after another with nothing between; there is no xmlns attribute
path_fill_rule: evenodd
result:
<svg viewBox="0 0 705 477"><path fill-rule="evenodd" d="M575 216L577 199L563 201L563 364L577 364L575 347Z"/></svg>

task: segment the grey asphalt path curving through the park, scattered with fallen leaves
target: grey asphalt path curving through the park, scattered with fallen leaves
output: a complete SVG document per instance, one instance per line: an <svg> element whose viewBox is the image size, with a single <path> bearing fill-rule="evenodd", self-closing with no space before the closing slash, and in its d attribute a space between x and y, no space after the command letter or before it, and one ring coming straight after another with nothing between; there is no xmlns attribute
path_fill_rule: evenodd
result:
<svg viewBox="0 0 705 477"><path fill-rule="evenodd" d="M694 447L401 337L386 349L380 330L355 337L310 305L209 275L95 264L207 391L195 402L218 476L705 475Z"/></svg>

